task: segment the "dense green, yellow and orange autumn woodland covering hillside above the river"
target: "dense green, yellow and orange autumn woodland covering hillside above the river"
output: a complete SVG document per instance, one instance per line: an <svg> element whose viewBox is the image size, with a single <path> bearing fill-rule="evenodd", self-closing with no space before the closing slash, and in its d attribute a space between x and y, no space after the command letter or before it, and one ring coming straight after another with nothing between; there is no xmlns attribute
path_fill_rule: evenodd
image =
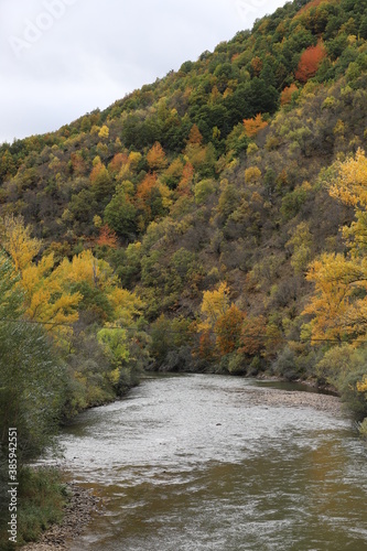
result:
<svg viewBox="0 0 367 551"><path fill-rule="evenodd" d="M294 0L0 147L3 453L143 369L309 379L363 421L366 40L367 0Z"/></svg>

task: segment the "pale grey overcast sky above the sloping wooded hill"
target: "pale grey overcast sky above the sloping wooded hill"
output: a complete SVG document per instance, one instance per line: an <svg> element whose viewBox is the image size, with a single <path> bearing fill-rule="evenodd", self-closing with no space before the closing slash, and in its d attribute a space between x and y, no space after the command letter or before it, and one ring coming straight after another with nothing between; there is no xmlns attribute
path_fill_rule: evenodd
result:
<svg viewBox="0 0 367 551"><path fill-rule="evenodd" d="M0 0L0 142L57 130L285 0Z"/></svg>

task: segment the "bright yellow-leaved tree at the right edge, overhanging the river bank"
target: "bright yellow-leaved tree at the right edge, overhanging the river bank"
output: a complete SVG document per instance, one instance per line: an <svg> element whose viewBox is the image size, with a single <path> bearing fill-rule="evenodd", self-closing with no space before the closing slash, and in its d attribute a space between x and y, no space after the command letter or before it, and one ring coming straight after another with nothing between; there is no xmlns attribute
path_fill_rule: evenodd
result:
<svg viewBox="0 0 367 551"><path fill-rule="evenodd" d="M315 284L304 314L313 341L336 339L359 344L367 336L367 159L355 158L333 166L336 177L328 184L331 196L355 207L356 220L343 228L347 255L324 253L306 274Z"/></svg>

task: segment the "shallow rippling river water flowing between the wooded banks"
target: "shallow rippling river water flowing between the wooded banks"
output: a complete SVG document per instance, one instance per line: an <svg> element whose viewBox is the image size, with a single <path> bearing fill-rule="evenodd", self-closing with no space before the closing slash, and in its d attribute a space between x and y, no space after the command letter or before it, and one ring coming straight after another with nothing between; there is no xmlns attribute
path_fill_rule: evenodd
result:
<svg viewBox="0 0 367 551"><path fill-rule="evenodd" d="M163 377L79 415L65 461L106 510L68 549L367 550L352 421L266 398L241 378Z"/></svg>

